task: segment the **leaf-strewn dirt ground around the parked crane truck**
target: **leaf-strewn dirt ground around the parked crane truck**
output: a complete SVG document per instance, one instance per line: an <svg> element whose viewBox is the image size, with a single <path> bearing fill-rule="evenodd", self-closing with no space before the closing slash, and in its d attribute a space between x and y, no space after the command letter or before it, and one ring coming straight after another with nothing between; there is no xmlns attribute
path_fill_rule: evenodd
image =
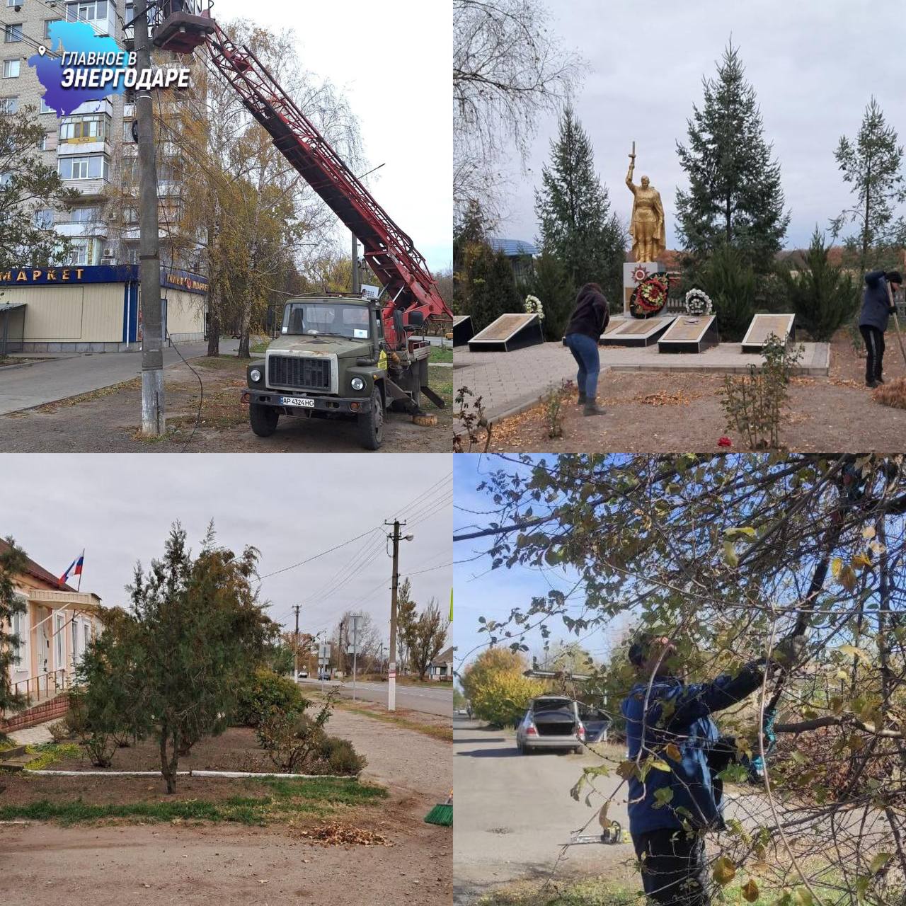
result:
<svg viewBox="0 0 906 906"><path fill-rule="evenodd" d="M198 429L198 378L186 365L164 371L168 435L140 439L141 390L135 379L104 390L0 417L0 452L42 453L312 453L361 452L352 421L282 418L273 437L257 438L248 427L248 407L239 401L246 387L246 361L235 356L193 359L204 385ZM448 408L425 401L438 417L434 428L389 412L381 452L448 452L453 416L452 369L429 367L431 386Z"/></svg>

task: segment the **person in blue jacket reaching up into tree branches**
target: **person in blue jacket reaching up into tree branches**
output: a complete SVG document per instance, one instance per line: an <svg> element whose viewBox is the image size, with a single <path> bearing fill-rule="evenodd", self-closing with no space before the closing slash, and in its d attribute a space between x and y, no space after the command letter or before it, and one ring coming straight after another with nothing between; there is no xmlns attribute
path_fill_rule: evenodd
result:
<svg viewBox="0 0 906 906"><path fill-rule="evenodd" d="M772 665L800 660L805 641L790 637L771 653ZM641 635L629 650L639 681L622 703L629 758L657 757L642 782L629 780L629 829L651 903L708 906L705 834L723 828L723 782L718 774L737 760L736 740L721 737L715 711L746 699L764 682L767 660L747 664L735 677L689 683L675 677L675 649L667 638ZM666 747L679 750L679 761ZM676 756L676 750L673 751Z"/></svg>

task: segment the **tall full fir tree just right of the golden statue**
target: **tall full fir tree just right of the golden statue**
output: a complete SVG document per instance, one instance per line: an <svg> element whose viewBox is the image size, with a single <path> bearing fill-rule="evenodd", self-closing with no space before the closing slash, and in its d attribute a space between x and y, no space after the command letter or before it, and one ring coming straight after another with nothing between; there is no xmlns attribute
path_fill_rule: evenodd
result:
<svg viewBox="0 0 906 906"><path fill-rule="evenodd" d="M732 43L718 78L704 79L704 104L692 108L689 145L677 143L689 189L677 189L679 237L699 262L721 245L737 248L757 273L771 269L783 245L780 164L764 138L755 89Z"/></svg>

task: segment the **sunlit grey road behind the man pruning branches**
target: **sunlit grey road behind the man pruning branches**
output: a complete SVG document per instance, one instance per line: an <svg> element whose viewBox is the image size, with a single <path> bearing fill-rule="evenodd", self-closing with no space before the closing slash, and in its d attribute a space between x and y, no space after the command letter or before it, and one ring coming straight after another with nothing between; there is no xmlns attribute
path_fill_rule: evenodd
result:
<svg viewBox="0 0 906 906"><path fill-rule="evenodd" d="M590 753L519 755L512 731L454 718L454 902L466 906L493 885L544 878L573 831L591 818L585 833L595 833L593 808L575 802L569 791L583 767L600 763ZM596 786L609 794L619 782L616 776L600 777ZM620 800L618 795L609 814L626 827L626 805ZM594 805L601 803L600 797L593 799ZM574 846L560 862L557 877L606 872L633 858L631 844Z"/></svg>

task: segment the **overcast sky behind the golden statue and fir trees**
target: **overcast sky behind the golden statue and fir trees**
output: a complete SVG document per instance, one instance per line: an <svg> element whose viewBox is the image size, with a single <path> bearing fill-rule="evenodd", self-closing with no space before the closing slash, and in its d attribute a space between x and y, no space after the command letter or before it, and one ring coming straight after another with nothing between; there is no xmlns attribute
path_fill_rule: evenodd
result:
<svg viewBox="0 0 906 906"><path fill-rule="evenodd" d="M834 148L841 135L858 130L872 94L906 140L901 0L547 0L547 6L564 46L589 64L574 105L614 210L628 221L632 198L624 180L635 140L635 181L647 174L660 190L670 248L677 247L676 188L688 185L676 141L686 143L692 105L702 102L702 75L716 75L731 33L781 164L792 210L788 247L807 245L815 223L826 227L847 207ZM501 235L535 238L534 188L555 134L555 117L545 117L527 178L513 168Z"/></svg>

